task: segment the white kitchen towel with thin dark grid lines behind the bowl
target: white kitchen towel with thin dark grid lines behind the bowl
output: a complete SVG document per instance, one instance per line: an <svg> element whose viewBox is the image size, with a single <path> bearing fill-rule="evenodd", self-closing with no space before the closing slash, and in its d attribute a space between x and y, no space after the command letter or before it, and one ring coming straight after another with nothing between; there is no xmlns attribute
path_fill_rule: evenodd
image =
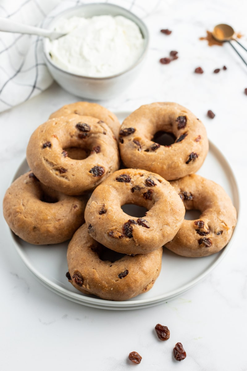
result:
<svg viewBox="0 0 247 371"><path fill-rule="evenodd" d="M31 26L46 27L60 12L97 0L1 0L0 17ZM103 0L125 7L141 18L157 10L164 0ZM167 0L167 2L172 0ZM0 32L0 112L47 89L53 79L44 63L42 37Z"/></svg>

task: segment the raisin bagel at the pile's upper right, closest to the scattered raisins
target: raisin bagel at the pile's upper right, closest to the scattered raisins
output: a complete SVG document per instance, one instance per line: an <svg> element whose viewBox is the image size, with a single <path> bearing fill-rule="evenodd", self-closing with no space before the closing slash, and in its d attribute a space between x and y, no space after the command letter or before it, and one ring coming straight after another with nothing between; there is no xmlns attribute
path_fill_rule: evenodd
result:
<svg viewBox="0 0 247 371"><path fill-rule="evenodd" d="M157 132L173 133L172 145L152 141ZM208 152L203 123L176 103L152 103L132 112L120 127L120 155L128 168L139 168L173 180L195 173Z"/></svg>

